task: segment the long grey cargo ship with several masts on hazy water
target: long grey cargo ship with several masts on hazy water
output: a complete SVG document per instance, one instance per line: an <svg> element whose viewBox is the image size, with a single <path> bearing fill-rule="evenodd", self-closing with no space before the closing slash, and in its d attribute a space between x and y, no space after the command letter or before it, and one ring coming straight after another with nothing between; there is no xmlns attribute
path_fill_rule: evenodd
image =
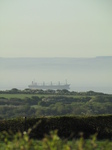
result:
<svg viewBox="0 0 112 150"><path fill-rule="evenodd" d="M30 89L42 89L42 90L69 90L70 89L70 84L66 83L65 84L53 84L52 82L50 84L45 84L43 82L42 84L37 84L37 82L32 81L30 85L28 85Z"/></svg>

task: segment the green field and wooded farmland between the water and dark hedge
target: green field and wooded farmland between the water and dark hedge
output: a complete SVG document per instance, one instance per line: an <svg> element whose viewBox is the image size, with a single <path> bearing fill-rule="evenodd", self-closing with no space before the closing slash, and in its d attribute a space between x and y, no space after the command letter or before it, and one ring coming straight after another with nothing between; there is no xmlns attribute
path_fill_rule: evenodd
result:
<svg viewBox="0 0 112 150"><path fill-rule="evenodd" d="M112 95L12 89L0 91L0 118L112 114Z"/></svg>

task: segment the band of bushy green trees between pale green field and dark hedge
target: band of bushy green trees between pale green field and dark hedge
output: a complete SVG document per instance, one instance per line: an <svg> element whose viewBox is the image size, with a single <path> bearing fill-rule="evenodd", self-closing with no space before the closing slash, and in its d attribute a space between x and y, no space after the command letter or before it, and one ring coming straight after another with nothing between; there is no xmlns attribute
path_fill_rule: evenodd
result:
<svg viewBox="0 0 112 150"><path fill-rule="evenodd" d="M0 97L0 118L112 114L112 95Z"/></svg>

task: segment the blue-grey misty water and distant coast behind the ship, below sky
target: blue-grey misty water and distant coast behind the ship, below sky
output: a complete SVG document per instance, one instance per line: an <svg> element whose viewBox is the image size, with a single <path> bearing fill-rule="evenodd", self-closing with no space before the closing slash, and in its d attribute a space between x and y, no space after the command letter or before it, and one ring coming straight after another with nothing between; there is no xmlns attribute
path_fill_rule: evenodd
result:
<svg viewBox="0 0 112 150"><path fill-rule="evenodd" d="M112 57L0 58L0 90L25 89L32 81L62 84L70 91L112 94Z"/></svg>

